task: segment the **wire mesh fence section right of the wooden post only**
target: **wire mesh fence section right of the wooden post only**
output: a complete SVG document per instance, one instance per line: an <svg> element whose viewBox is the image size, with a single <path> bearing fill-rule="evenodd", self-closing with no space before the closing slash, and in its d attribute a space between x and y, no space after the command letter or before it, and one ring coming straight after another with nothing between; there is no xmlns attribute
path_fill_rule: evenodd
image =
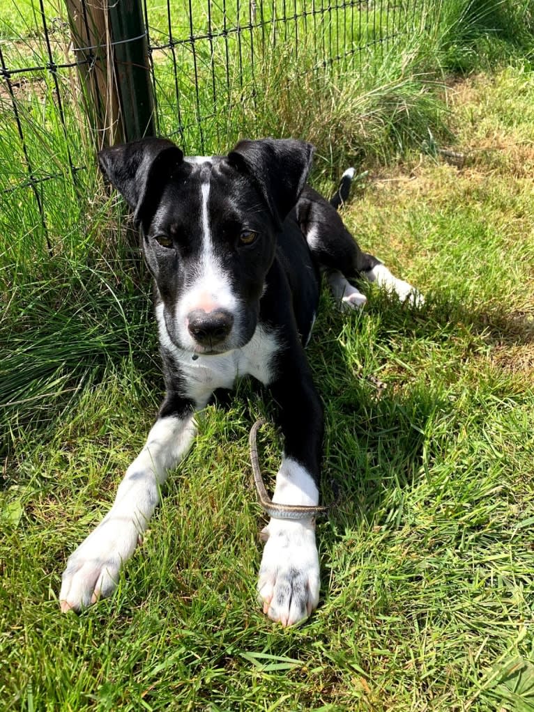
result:
<svg viewBox="0 0 534 712"><path fill-rule="evenodd" d="M253 107L273 56L296 73L355 70L412 26L416 8L417 0L189 1L186 11L167 4L164 26L145 4L159 130L209 150L232 112Z"/></svg>

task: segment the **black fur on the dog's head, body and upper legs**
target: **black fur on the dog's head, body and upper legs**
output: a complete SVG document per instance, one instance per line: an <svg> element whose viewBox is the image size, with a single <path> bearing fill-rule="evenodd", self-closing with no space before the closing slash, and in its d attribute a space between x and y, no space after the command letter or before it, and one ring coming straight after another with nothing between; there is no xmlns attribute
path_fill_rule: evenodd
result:
<svg viewBox="0 0 534 712"><path fill-rule="evenodd" d="M143 250L164 306L172 343L182 342L173 323L179 300L192 283L202 248L199 238L202 184L210 186L209 217L214 256L239 294L242 318L234 340L215 352L243 347L259 324L276 330L279 348L269 383L278 404L285 449L318 481L323 412L303 345L318 309L320 271L356 278L378 260L363 253L335 207L305 186L313 147L294 140L241 141L227 157L189 163L171 142L150 139L100 152L100 166L125 196L143 231ZM350 179L342 182L347 197ZM335 199L333 199L336 204ZM239 246L243 226L259 235ZM310 248L306 237L315 231ZM172 249L160 246L160 235ZM172 350L162 346L167 397L160 415L192 407Z"/></svg>

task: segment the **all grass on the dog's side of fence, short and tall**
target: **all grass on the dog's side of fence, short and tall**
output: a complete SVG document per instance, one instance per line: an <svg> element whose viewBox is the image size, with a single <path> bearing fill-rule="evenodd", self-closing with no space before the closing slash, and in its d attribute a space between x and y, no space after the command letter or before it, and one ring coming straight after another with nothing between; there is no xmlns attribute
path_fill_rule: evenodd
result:
<svg viewBox="0 0 534 712"><path fill-rule="evenodd" d="M271 409L247 383L228 409L206 409L115 595L59 614L66 557L142 447L162 378L147 276L80 114L67 103L85 166L73 186L51 89L20 89L36 171L52 162L60 177L40 187L48 234L31 192L1 196L3 708L534 709L534 89L518 58L530 4L494 8L497 38L487 3L434 6L438 28L419 49L417 38L384 48L344 81L296 77L282 43L258 60L256 105L247 94L206 130L214 150L240 132L311 138L327 193L347 160L370 169L344 219L426 295L414 311L369 288L365 313L348 317L323 296L308 357L325 402L323 497L339 489L340 503L318 525L320 607L298 629L271 624L255 599L263 517L247 436ZM496 73L448 81L446 112L429 91L449 70L510 54ZM168 68L161 82L170 110ZM231 92L237 105L239 82ZM21 153L0 102L0 174L13 187ZM436 152L449 142L461 171Z"/></svg>

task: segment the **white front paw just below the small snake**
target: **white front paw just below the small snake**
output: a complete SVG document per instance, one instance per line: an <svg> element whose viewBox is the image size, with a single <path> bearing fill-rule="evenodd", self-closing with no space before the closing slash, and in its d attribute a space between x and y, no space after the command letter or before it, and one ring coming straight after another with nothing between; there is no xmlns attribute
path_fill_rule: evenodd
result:
<svg viewBox="0 0 534 712"><path fill-rule="evenodd" d="M273 621L290 626L319 602L319 556L311 523L271 519L258 579L258 600Z"/></svg>

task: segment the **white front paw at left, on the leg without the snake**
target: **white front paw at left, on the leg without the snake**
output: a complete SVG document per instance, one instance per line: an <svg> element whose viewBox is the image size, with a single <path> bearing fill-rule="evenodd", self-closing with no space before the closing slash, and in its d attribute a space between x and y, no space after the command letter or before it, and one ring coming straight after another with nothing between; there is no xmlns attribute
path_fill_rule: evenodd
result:
<svg viewBox="0 0 534 712"><path fill-rule="evenodd" d="M61 610L79 612L109 596L117 586L122 563L135 551L137 538L132 520L103 520L68 557L59 594Z"/></svg>

